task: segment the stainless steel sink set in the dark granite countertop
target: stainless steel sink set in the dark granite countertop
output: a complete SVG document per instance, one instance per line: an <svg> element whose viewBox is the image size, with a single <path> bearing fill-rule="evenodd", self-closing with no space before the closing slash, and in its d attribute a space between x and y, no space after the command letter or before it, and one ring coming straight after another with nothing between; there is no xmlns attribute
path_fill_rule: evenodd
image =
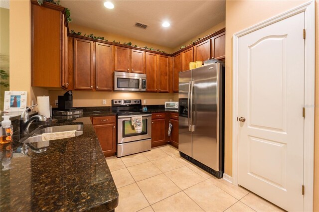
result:
<svg viewBox="0 0 319 212"><path fill-rule="evenodd" d="M33 135L20 140L21 143L33 143L75 137L83 134L83 124L50 126L39 129ZM44 136L45 135L45 136ZM49 136L50 139L47 138Z"/></svg>

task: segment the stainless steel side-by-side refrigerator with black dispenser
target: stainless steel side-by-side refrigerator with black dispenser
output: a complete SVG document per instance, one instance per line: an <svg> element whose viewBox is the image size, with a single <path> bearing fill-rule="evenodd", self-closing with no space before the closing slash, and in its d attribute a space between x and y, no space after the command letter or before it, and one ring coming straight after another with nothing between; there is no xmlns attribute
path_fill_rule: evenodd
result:
<svg viewBox="0 0 319 212"><path fill-rule="evenodd" d="M179 73L180 155L222 178L225 68L214 63Z"/></svg>

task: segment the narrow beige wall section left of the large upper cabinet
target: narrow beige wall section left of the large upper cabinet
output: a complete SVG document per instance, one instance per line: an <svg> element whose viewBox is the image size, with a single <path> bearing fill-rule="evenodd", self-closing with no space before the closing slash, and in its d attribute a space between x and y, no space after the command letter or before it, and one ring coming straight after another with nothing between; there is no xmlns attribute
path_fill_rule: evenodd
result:
<svg viewBox="0 0 319 212"><path fill-rule="evenodd" d="M31 87L30 1L10 0L10 91L26 91L27 106L48 91Z"/></svg>

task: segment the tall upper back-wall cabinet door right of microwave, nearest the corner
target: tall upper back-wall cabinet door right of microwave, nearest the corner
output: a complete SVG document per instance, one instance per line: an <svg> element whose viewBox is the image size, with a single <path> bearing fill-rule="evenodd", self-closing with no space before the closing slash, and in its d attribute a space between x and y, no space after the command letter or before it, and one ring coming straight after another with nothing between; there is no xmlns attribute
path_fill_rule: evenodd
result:
<svg viewBox="0 0 319 212"><path fill-rule="evenodd" d="M168 70L168 56L159 55L159 92L169 92Z"/></svg>

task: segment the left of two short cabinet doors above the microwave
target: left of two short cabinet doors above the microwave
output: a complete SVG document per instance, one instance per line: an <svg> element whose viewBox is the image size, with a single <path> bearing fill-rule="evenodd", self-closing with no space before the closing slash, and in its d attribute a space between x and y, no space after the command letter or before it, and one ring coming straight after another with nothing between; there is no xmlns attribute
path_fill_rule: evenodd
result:
<svg viewBox="0 0 319 212"><path fill-rule="evenodd" d="M131 49L115 46L115 71L130 72Z"/></svg>

